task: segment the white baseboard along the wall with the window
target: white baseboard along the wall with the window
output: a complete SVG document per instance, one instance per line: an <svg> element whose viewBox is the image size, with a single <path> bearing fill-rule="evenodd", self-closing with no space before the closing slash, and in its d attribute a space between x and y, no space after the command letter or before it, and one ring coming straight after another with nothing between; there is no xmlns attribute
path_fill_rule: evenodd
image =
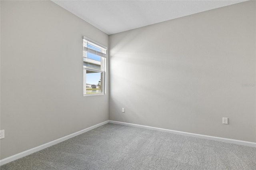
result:
<svg viewBox="0 0 256 170"><path fill-rule="evenodd" d="M9 156L9 157L7 157L7 158L4 158L4 159L0 160L0 165L7 164L7 163L9 163L9 162L12 162L12 161L17 160L17 159L19 159L19 158L22 158L22 157L24 157L24 156L27 156L27 155L32 154L32 153L34 153L34 152L37 152L37 151L39 151L39 150L48 148L48 147L50 147L50 146L52 146L52 145L54 145L54 144L63 142L64 140L68 140L68 139L70 139L70 138L73 138L73 137L75 137L75 136L78 136L79 134L82 134L82 133L84 133L84 132L88 132L89 130L92 130L92 129L94 129L94 128L100 127L100 126L105 125L105 124L107 124L107 123L109 123L109 121L105 121L105 122L99 123L99 124L94 125L94 126L92 126L92 127L85 128L84 130L80 130L80 131L78 131L78 132L69 134L69 135L64 136L64 137L62 137L62 138L58 138L58 139L53 140L53 141L51 141L51 142L48 142L48 143L46 143L46 144L42 144L42 145L40 145L40 146L36 146L35 148L29 149L29 150L25 150L24 152L20 152L20 153L18 153L18 154Z"/></svg>

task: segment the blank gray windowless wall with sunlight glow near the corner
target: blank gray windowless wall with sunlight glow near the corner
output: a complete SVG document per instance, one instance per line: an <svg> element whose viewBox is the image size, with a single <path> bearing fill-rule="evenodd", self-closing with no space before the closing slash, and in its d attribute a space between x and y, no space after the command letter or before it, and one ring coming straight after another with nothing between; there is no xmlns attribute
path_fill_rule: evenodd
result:
<svg viewBox="0 0 256 170"><path fill-rule="evenodd" d="M255 9L242 2L111 35L110 120L256 142L255 87L242 87L256 83Z"/></svg>

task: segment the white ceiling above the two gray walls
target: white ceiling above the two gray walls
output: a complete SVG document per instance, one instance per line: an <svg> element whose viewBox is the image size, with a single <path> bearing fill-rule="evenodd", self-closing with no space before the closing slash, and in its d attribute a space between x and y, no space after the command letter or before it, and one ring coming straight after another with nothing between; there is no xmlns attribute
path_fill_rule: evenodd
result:
<svg viewBox="0 0 256 170"><path fill-rule="evenodd" d="M246 0L52 0L108 35Z"/></svg>

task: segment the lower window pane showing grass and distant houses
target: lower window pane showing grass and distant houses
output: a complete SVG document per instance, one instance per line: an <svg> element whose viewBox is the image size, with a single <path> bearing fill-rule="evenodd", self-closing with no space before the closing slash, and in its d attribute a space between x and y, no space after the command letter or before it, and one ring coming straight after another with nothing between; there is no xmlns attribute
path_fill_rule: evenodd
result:
<svg viewBox="0 0 256 170"><path fill-rule="evenodd" d="M102 73L86 70L86 94L102 93Z"/></svg>

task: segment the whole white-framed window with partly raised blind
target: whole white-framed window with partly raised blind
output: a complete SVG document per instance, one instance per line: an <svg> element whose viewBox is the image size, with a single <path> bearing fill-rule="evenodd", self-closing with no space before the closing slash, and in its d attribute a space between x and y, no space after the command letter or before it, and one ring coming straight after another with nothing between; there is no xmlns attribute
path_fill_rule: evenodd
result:
<svg viewBox="0 0 256 170"><path fill-rule="evenodd" d="M84 37L84 96L106 93L106 50Z"/></svg>

